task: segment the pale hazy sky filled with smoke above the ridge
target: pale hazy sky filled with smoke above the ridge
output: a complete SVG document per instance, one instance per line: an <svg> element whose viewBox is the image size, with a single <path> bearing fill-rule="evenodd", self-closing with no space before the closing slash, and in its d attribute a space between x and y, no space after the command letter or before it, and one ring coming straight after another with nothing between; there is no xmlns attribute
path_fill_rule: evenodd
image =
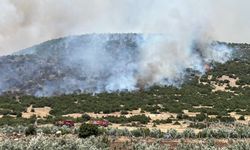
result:
<svg viewBox="0 0 250 150"><path fill-rule="evenodd" d="M249 6L250 0L0 0L0 55L84 33L175 36L195 29L214 40L250 43Z"/></svg>

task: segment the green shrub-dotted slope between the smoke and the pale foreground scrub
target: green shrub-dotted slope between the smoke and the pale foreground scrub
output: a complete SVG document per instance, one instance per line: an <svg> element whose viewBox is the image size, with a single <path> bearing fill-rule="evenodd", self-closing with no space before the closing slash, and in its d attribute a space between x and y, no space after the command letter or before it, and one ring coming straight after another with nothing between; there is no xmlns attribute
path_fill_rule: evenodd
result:
<svg viewBox="0 0 250 150"><path fill-rule="evenodd" d="M235 49L234 59L226 63L213 63L213 69L203 75L190 74L189 80L180 87L153 86L133 92L103 92L94 95L80 93L52 97L5 93L0 96L0 114L3 115L1 122L27 123L32 121L32 115L35 115L35 118L45 117L45 120L40 120L41 123L60 120L64 115L74 117L75 114L79 117L83 113L90 113L94 117L107 117L118 113L118 116L122 117L123 114L129 115L136 111L135 114L138 115L146 114L152 117L150 114L155 114L151 123L157 120L157 116L162 118L162 115L169 117L173 115L173 120L185 118L191 121L202 117L203 119L198 120L203 121L206 118L211 122L235 121L243 116L247 123L250 120L250 45L228 44L228 46ZM47 112L45 116L39 113L42 109ZM96 115L92 114L93 112ZM28 117L28 120L19 118L27 116L26 113L30 114L28 116L31 118ZM199 114L205 115L199 116ZM13 115L17 118L13 119ZM124 118L119 117L107 119L117 123L124 122Z"/></svg>

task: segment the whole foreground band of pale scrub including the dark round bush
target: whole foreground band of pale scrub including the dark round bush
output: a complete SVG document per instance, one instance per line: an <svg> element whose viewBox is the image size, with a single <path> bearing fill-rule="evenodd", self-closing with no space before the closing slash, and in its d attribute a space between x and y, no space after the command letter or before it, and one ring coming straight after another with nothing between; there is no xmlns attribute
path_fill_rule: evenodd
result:
<svg viewBox="0 0 250 150"><path fill-rule="evenodd" d="M33 130L35 132L30 132ZM146 128L129 131L97 128L86 124L80 128L5 126L1 128L0 133L1 137L4 137L0 140L2 150L247 150L250 148L248 126L207 128L197 134L191 129L182 133L170 129L163 133ZM82 136L87 135L86 133L88 136Z"/></svg>

